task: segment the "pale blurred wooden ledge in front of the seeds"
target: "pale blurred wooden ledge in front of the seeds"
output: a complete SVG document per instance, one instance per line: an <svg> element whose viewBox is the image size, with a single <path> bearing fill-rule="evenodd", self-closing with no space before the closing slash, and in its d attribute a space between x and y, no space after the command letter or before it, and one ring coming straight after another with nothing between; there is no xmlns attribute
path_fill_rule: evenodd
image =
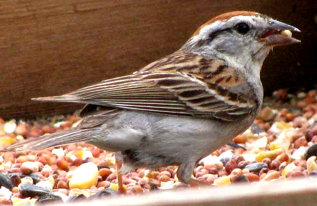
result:
<svg viewBox="0 0 317 206"><path fill-rule="evenodd" d="M274 180L204 188L149 192L137 196L109 197L94 206L316 206L317 178ZM86 206L87 203L76 203ZM72 206L63 205L63 206Z"/></svg>

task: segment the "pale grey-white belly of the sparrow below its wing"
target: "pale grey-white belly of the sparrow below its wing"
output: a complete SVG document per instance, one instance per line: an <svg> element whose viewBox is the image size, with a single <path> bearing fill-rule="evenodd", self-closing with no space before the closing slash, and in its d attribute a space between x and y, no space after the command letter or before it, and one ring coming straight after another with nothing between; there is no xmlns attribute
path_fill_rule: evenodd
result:
<svg viewBox="0 0 317 206"><path fill-rule="evenodd" d="M120 151L128 168L157 168L178 165L188 160L196 162L243 132L253 119L250 117L242 121L248 123L127 111L117 119L116 125L141 131L144 135L140 138L133 137L132 140L128 136L125 137L129 142L125 147L131 146L130 149L112 148L112 150ZM120 135L119 128L117 135ZM122 148L122 142L117 147Z"/></svg>

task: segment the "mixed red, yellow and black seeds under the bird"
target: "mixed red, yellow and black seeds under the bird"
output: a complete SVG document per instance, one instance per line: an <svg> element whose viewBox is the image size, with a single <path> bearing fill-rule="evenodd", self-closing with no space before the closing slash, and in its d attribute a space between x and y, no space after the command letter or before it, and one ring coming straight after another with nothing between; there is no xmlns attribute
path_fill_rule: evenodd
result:
<svg viewBox="0 0 317 206"><path fill-rule="evenodd" d="M67 130L78 119L54 117L28 121L0 118L0 148ZM253 125L202 159L193 177L213 185L267 182L317 175L317 91L288 94L284 89L264 99ZM232 144L231 144L232 145ZM125 195L173 188L177 166L124 175ZM42 205L119 195L115 157L79 143L40 151L0 152L0 204Z"/></svg>

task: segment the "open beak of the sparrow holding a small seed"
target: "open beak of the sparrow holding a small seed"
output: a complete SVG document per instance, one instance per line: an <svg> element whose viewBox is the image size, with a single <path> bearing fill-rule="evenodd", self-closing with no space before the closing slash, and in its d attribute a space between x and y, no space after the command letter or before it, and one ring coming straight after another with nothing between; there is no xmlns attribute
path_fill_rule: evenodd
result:
<svg viewBox="0 0 317 206"><path fill-rule="evenodd" d="M288 32L285 30L288 30ZM281 33L280 31L284 31L284 33ZM265 45L268 46L281 46L299 43L300 40L291 37L290 31L300 32L299 29L293 26L272 19L270 20L266 31L260 35L260 40L264 41Z"/></svg>

